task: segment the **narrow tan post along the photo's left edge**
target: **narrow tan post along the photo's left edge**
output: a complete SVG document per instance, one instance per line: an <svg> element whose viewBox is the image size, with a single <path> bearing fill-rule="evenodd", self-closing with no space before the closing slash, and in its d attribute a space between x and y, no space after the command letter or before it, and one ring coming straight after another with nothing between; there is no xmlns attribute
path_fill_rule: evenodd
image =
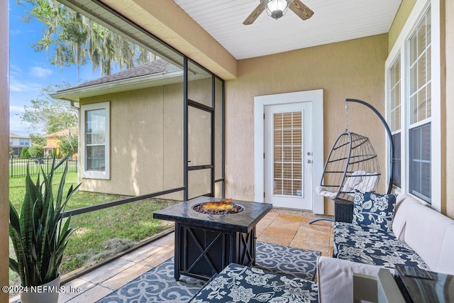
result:
<svg viewBox="0 0 454 303"><path fill-rule="evenodd" d="M9 6L0 4L0 286L9 285ZM9 294L0 292L0 302Z"/></svg>

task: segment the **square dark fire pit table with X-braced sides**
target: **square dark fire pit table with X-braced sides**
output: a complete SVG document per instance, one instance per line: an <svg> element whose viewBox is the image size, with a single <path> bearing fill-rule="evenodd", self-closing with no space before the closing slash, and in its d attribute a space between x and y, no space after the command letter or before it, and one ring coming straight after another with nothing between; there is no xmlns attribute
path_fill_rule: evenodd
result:
<svg viewBox="0 0 454 303"><path fill-rule="evenodd" d="M153 214L155 219L175 221L175 280L180 275L209 280L230 263L255 264L255 226L272 204L232 200L232 213L196 211L206 202L226 204L223 199L197 197Z"/></svg>

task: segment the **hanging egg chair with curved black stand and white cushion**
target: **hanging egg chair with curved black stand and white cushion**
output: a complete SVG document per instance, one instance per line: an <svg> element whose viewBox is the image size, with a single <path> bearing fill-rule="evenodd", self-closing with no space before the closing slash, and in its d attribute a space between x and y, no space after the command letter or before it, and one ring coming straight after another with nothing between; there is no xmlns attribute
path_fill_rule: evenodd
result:
<svg viewBox="0 0 454 303"><path fill-rule="evenodd" d="M388 124L374 106L358 99L345 99L345 131L336 139L326 159L317 194L334 201L334 219L316 218L316 221L351 222L355 191L375 192L381 172L377 153L369 138L348 131L348 102L367 106L382 121L389 139L389 182L387 193L392 190L394 172L394 144Z"/></svg>

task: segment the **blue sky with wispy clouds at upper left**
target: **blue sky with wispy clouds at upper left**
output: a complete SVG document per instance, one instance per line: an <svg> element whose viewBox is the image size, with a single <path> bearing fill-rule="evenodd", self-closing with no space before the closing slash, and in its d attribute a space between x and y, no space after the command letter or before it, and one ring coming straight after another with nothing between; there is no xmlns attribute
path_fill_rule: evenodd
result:
<svg viewBox="0 0 454 303"><path fill-rule="evenodd" d="M10 94L9 128L10 133L29 135L37 133L28 123L21 120L25 105L37 99L40 89L50 84L70 83L71 86L99 77L99 71L92 72L91 65L81 67L79 76L77 67L64 67L50 64L45 51L35 52L31 45L42 37L43 23L21 21L25 16L25 7L9 0L10 31ZM63 101L62 101L63 102Z"/></svg>

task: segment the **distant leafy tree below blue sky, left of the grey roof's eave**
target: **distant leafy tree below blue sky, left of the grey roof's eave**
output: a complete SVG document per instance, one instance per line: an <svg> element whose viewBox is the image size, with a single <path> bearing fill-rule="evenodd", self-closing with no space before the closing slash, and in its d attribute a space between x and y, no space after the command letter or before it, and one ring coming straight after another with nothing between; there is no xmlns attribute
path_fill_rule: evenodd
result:
<svg viewBox="0 0 454 303"><path fill-rule="evenodd" d="M38 98L30 101L31 105L23 106L25 111L21 115L21 119L30 123L33 130L55 133L77 126L79 109L70 101L50 97L50 94L59 89L62 89L62 86L49 85L44 87L41 89Z"/></svg>

